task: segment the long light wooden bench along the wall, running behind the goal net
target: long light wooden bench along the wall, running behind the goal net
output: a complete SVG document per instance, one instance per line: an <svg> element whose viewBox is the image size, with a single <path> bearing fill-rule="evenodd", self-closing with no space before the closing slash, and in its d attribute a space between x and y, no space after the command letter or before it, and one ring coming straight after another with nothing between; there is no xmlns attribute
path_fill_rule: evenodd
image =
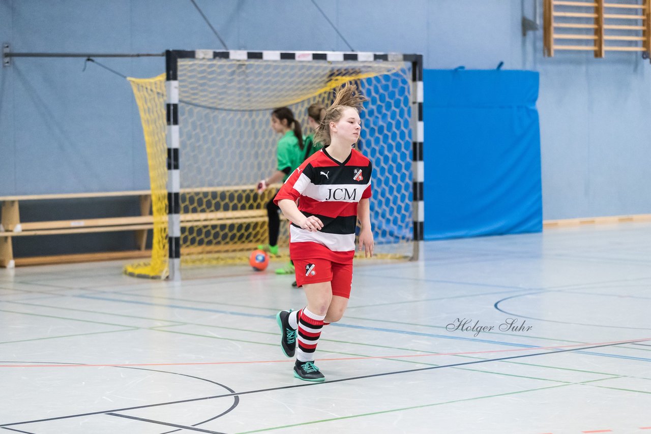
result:
<svg viewBox="0 0 651 434"><path fill-rule="evenodd" d="M215 187L212 189L182 189L181 193L200 193L207 191L232 191L250 189L250 186ZM95 219L57 220L21 222L19 203L25 200L61 200L76 198L108 198L137 196L140 200L141 215L125 217L105 217ZM0 267L15 265L55 264L64 262L89 262L96 260L117 260L128 258L145 258L150 256L146 250L147 230L154 227L151 208L151 192L116 191L107 193L71 193L62 195L24 195L0 197L2 202L0 217ZM212 211L181 215L181 226L202 226L210 224L245 223L266 221L264 209L241 211ZM16 258L13 254L13 239L24 236L88 234L96 232L134 231L136 250L120 252L94 252L77 254L59 254L53 256L35 256Z"/></svg>

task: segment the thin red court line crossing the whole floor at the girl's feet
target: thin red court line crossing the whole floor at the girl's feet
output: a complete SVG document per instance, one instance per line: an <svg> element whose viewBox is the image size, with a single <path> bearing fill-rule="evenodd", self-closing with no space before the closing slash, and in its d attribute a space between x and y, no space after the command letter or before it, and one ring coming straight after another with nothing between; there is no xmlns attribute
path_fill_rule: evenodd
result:
<svg viewBox="0 0 651 434"><path fill-rule="evenodd" d="M467 354L490 354L490 353L508 353L515 351L539 351L541 349L559 349L571 347L585 347L596 345L617 345L628 344L630 342L646 342L651 338L634 339L634 340L616 340L613 342L592 342L585 344L562 345L553 347L531 347L531 348L510 348L510 349L493 349L488 351L464 351L460 353L426 353L426 354L409 354L409 355L395 355L395 356L368 356L368 357L337 357L331 359L319 359L319 361L337 361L337 360L367 360L367 359L408 359L413 357L434 357L434 356L456 356ZM294 362L292 359L284 360L251 360L240 362L188 362L188 363L115 363L115 364L0 364L0 368L98 368L104 366L193 366L193 365L214 365L214 364L252 364L252 363L285 363ZM585 431L585 432L600 432L600 431ZM607 432L607 431L603 431Z"/></svg>

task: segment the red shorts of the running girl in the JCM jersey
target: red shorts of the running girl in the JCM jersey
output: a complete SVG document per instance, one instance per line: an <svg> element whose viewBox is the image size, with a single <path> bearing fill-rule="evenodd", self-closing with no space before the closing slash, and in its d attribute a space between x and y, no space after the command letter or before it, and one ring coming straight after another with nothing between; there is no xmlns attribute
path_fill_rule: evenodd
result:
<svg viewBox="0 0 651 434"><path fill-rule="evenodd" d="M353 264L339 264L327 259L295 259L296 284L331 282L332 295L350 298Z"/></svg>

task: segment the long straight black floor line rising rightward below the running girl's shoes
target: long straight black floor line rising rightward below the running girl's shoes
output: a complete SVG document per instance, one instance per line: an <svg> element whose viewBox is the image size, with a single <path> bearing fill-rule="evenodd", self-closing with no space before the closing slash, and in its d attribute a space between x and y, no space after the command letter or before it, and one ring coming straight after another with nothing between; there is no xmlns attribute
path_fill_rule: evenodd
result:
<svg viewBox="0 0 651 434"><path fill-rule="evenodd" d="M242 395L249 395L249 394L261 393L261 392L274 392L276 390L286 390L286 389L292 389L292 388L298 388L298 387L322 386L322 385L329 385L329 384L332 384L332 383L341 383L342 381L352 381L352 380L367 379L367 378L373 378L373 377L383 377L385 375L395 375L397 373L411 373L411 372L430 371L430 370L442 369L442 368L455 368L456 366L467 366L467 365L471 365L471 364L480 364L480 363L487 363L487 362L499 362L501 360L522 359L524 357L534 357L534 356L540 356L540 355L568 353L568 352L571 352L571 351L584 351L586 349L613 347L613 346L624 345L624 344L634 344L635 342L648 342L650 340L651 340L651 338L645 338L645 339L633 340L633 341L627 341L627 342L616 342L615 344L601 344L601 345L593 345L593 346L581 347L581 348L559 349L558 351L544 351L542 353L523 354L523 355L518 355L518 356L510 356L510 357L499 357L498 359L475 360L473 362L444 364L444 365L440 365L440 366L428 366L427 368L416 368L416 369L409 369L409 370L402 370L402 371L372 373L370 375L360 375L359 377L341 378L341 379L338 379L338 380L323 381L323 382L320 382L320 383L305 383L305 384L301 384L301 385L270 387L270 388L266 388L266 389L247 390L246 392L234 392L234 393L225 394L225 395L204 396L202 398L190 398L188 400L162 402L162 403L158 403L158 404L149 404L149 405L138 405L136 407L126 407L124 409L113 409L113 410L106 410L106 411L93 411L93 412L90 412L90 413L71 414L69 416L58 416L58 417L46 418L46 419L26 420L25 422L13 422L11 424L2 424L2 425L0 425L0 427L23 425L23 424L33 424L35 422L49 422L50 420L61 420L61 419L69 419L69 418L76 418L76 417L82 417L82 416L92 416L94 414L115 413L117 411L148 409L148 408L151 408L151 407L160 407L161 405L172 405L172 404L182 404L182 403L187 403L187 402L214 400L216 398L229 398L230 396L242 396Z"/></svg>

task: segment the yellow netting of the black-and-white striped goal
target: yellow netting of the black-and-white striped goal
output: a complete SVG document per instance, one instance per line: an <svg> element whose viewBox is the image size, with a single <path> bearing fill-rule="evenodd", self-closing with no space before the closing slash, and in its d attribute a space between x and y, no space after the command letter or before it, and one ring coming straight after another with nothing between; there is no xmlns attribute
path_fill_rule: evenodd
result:
<svg viewBox="0 0 651 434"><path fill-rule="evenodd" d="M152 260L131 275L167 273L165 81L130 79L140 110L154 204ZM271 110L287 106L307 128L307 107L329 105L332 90L354 81L368 98L359 148L374 166L371 217L380 257L411 256L411 65L406 62L234 61L179 59L182 264L243 262L268 242L266 204L258 180L276 169L280 138ZM152 197L153 198L153 197ZM288 224L281 221L281 254Z"/></svg>

